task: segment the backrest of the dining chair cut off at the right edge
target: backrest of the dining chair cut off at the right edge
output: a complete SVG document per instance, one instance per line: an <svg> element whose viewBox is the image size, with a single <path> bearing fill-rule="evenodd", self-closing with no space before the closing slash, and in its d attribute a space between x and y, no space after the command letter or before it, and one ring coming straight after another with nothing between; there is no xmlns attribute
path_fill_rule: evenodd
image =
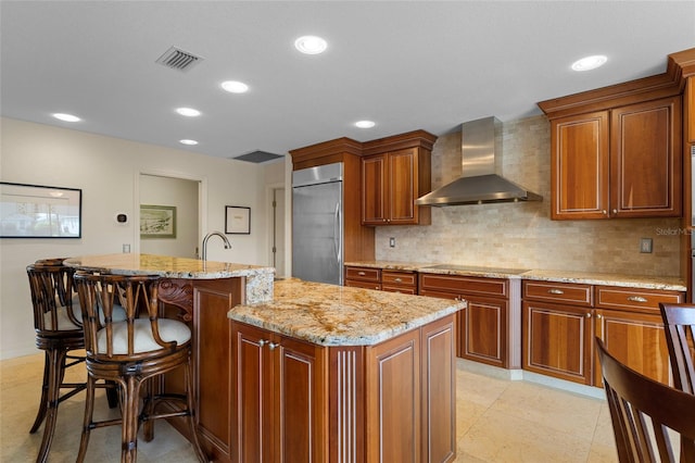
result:
<svg viewBox="0 0 695 463"><path fill-rule="evenodd" d="M673 370L673 385L695 393L695 305L659 303L659 309Z"/></svg>

